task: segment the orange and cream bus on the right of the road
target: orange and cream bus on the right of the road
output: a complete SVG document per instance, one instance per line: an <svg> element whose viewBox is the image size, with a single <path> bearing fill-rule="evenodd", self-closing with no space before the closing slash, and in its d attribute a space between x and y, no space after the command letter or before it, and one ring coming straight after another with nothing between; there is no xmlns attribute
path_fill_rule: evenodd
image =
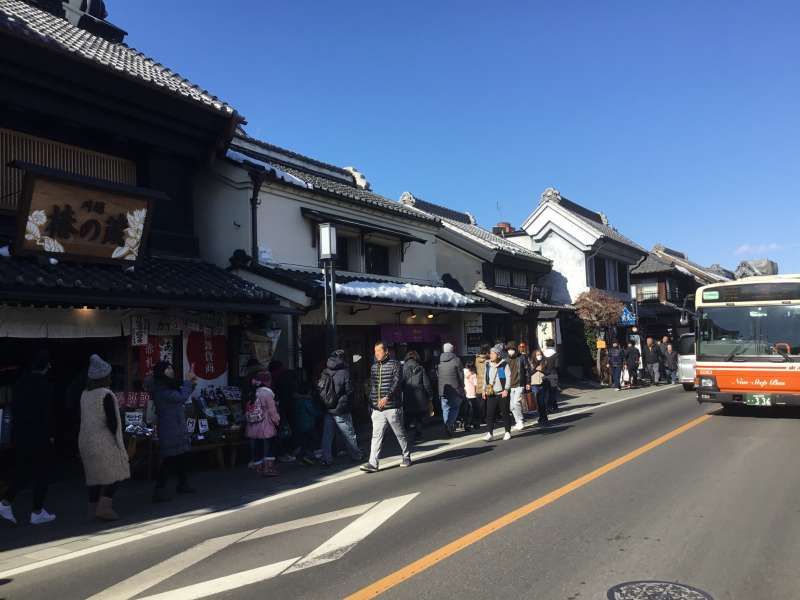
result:
<svg viewBox="0 0 800 600"><path fill-rule="evenodd" d="M707 285L695 308L698 402L800 405L800 275Z"/></svg>

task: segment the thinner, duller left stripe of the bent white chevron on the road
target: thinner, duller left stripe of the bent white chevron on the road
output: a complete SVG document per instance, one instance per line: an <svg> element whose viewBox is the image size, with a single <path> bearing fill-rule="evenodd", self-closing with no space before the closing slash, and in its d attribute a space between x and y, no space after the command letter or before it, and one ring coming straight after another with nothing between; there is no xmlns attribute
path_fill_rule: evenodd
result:
<svg viewBox="0 0 800 600"><path fill-rule="evenodd" d="M321 525L322 523L329 523L331 521L338 521L348 517L357 517L363 515L377 502L370 502L369 504L362 504L361 506L354 506L352 508L345 508L336 510L321 515L314 515L312 517L304 517L302 519L295 519L294 521L287 521L286 523L278 523L277 525L269 525L261 529L250 529L247 531L240 531L230 535L206 540L197 546L189 548L188 550L176 554L165 561L150 567L133 577L117 583L95 594L89 600L129 600L145 590L158 585L162 581L166 581L173 575L177 575L192 565L199 563L202 560L213 556L217 552L221 552L225 548L232 546L238 542L249 542L252 540L262 539L271 535L279 533L286 533L303 527L312 527L314 525Z"/></svg>

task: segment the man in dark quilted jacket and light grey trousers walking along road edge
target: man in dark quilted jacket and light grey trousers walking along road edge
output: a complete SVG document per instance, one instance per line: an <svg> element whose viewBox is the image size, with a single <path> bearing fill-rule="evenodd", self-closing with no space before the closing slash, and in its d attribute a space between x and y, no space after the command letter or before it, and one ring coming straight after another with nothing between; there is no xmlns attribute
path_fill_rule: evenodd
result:
<svg viewBox="0 0 800 600"><path fill-rule="evenodd" d="M378 471L378 459L383 446L383 435L391 427L403 454L401 467L411 466L411 450L408 446L405 425L403 424L403 398L400 385L403 368L390 358L386 344L375 344L375 362L370 370L369 401L372 406L372 446L369 462L361 470L367 473Z"/></svg>

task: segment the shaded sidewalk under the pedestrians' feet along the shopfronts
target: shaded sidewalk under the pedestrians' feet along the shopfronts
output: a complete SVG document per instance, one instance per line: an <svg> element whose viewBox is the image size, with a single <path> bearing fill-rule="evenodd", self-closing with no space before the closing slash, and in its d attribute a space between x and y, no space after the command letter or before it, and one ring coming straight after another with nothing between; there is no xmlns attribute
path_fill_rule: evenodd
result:
<svg viewBox="0 0 800 600"><path fill-rule="evenodd" d="M646 390L634 390L633 393ZM562 413L588 410L625 395L613 389L596 385L570 386L562 391ZM528 421L533 423L533 421ZM527 424L526 424L527 426ZM447 451L454 445L478 441L480 433L457 434L451 439L436 439L438 423L426 430L424 442L415 445L414 453L435 455ZM392 436L387 437L382 467L391 466L399 460L399 448ZM362 447L368 439L361 439ZM86 515L86 496L82 482L76 478L50 488L46 506L56 513L58 519L51 524L32 526L27 523L30 510L30 493L20 494L15 503L15 514L19 525L0 522L0 572L53 559L72 552L112 543L131 536L143 537L164 528L179 527L182 522L197 518L213 518L220 512L236 510L252 504L263 504L293 493L302 493L309 487L326 485L333 481L359 476L358 465L347 457L337 459L333 467L305 466L299 463L282 464L281 476L264 479L257 477L246 467L227 470L198 472L191 482L197 494L176 495L164 504L151 502L153 484L147 481L125 482L117 492L115 508L122 516L116 523L89 521Z"/></svg>

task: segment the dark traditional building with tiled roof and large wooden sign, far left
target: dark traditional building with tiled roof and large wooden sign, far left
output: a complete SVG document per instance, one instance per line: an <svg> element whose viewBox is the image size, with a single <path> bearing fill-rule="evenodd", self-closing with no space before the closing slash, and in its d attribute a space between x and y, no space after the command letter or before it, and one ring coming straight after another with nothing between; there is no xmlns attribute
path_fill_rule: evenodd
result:
<svg viewBox="0 0 800 600"><path fill-rule="evenodd" d="M0 386L49 350L65 436L91 353L122 397L160 359L225 386L287 311L200 258L194 178L242 118L83 4L0 0Z"/></svg>

